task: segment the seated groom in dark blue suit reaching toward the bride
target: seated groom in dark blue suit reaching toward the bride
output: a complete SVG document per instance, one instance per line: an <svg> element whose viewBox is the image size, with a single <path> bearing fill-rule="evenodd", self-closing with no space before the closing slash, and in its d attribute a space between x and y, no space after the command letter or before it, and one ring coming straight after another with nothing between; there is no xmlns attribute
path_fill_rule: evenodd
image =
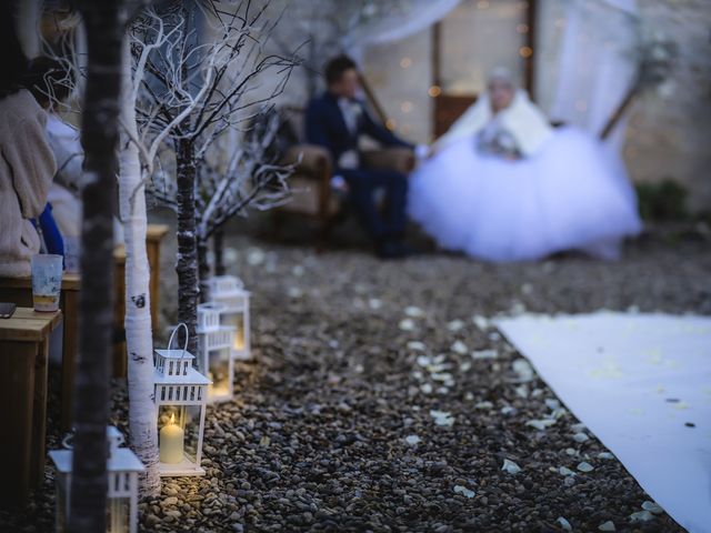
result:
<svg viewBox="0 0 711 533"><path fill-rule="evenodd" d="M375 242L375 252L383 259L407 255L402 243L407 222L408 177L397 171L368 170L361 165L358 139L373 138L385 147L414 148L375 123L357 99L360 89L357 66L347 56L339 56L326 67L326 93L309 104L306 117L307 139L329 150L334 175L348 183L350 200L361 223ZM385 210L380 211L374 199L377 189L385 191Z"/></svg>

